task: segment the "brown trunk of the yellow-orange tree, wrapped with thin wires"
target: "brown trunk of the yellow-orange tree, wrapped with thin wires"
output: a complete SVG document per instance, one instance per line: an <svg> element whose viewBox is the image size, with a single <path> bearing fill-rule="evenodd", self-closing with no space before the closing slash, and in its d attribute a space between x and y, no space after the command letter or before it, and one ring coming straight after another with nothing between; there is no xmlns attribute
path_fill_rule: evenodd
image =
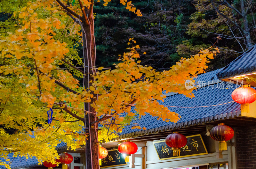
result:
<svg viewBox="0 0 256 169"><path fill-rule="evenodd" d="M86 12L87 13L87 12ZM89 24L83 23L83 53L84 53L84 89L88 90L89 86L93 82L93 77L90 76L95 72L95 46L94 46L94 24L93 17L89 17ZM89 77L89 78L88 78ZM92 93L93 94L93 93ZM97 95L94 95L96 98ZM89 133L86 140L86 150L85 150L85 164L86 169L99 169L99 154L98 154L98 123L93 123L97 121L98 117L93 107L90 104L84 103L84 110L87 111L85 114L85 133ZM88 113L89 112L89 113ZM91 112L91 113L90 113Z"/></svg>

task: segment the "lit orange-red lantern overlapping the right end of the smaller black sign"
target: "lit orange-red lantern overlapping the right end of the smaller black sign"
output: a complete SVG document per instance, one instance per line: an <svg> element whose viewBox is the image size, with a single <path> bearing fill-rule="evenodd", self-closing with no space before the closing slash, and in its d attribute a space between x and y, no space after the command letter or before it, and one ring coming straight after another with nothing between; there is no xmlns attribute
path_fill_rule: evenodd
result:
<svg viewBox="0 0 256 169"><path fill-rule="evenodd" d="M137 150L138 150L138 146L135 143L132 143L129 141L123 142L118 146L118 151L125 156L124 158L125 162L129 162L131 154L136 153Z"/></svg>

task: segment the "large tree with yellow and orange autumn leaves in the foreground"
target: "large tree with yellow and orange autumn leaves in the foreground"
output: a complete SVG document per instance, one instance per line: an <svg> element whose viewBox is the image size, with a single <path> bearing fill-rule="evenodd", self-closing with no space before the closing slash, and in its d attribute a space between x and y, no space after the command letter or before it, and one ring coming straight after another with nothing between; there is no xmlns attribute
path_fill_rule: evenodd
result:
<svg viewBox="0 0 256 169"><path fill-rule="evenodd" d="M164 121L178 121L178 114L158 103L166 97L163 91L194 97L193 89L186 90L183 84L204 72L217 48L201 50L170 70L157 72L140 65L136 51L140 47L131 38L129 52L120 55L115 69L96 68L93 3L28 2L14 15L16 29L1 35L0 157L7 160L0 165L9 167L9 153L54 163L55 146L63 141L70 149L85 145L86 168L99 168L99 140L115 137L107 136L107 131L117 131L133 117L132 107L142 116L149 113ZM142 15L131 2L120 3ZM78 25L75 34L83 45L82 59L74 49L79 44L63 36L70 19Z"/></svg>

